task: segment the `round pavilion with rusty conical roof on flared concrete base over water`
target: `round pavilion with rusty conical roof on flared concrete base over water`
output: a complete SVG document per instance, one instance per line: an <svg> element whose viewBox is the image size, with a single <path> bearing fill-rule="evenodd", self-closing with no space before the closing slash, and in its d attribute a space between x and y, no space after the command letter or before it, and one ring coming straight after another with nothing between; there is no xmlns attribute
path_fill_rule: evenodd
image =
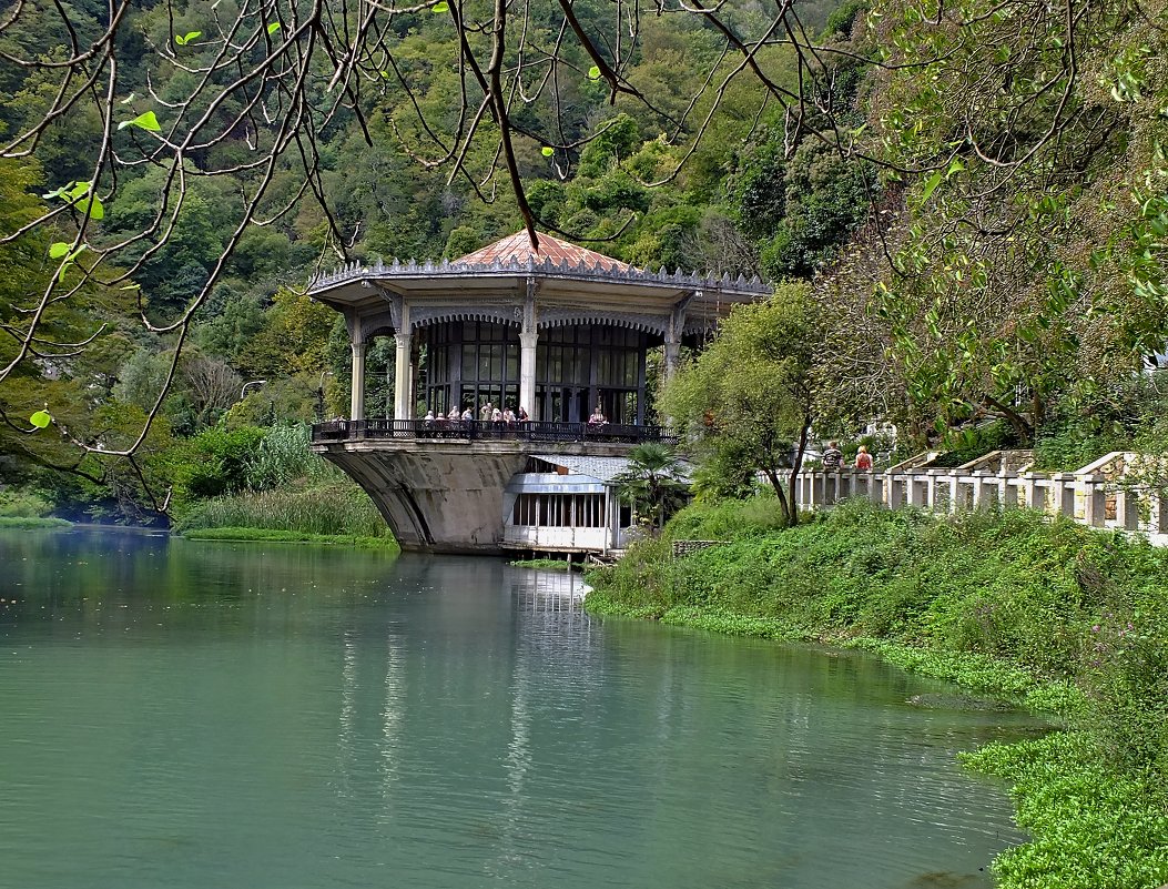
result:
<svg viewBox="0 0 1168 889"><path fill-rule="evenodd" d="M520 231L454 261L348 265L308 292L343 313L353 349L349 417L317 425L314 450L373 496L403 548L496 553L520 541L550 551L619 548L620 508L609 494L603 544L544 546L572 535L536 533L538 525L516 532L515 521L552 516L515 506L534 502L519 498L524 470L536 454L544 467L565 458L530 482L541 489L528 493L551 496L552 475L582 484L568 481L564 466L580 464L566 458L623 460L640 442L673 440L648 404L648 352L663 347L670 376L682 345L700 347L734 305L770 289L758 278L644 271L550 235L535 246ZM366 348L378 335L396 345L392 417L366 416ZM523 408L528 421L493 422L488 403ZM590 423L598 408L604 422ZM588 484L609 485L616 464L602 463L589 464L603 478ZM579 521L598 521L590 509L580 507Z"/></svg>

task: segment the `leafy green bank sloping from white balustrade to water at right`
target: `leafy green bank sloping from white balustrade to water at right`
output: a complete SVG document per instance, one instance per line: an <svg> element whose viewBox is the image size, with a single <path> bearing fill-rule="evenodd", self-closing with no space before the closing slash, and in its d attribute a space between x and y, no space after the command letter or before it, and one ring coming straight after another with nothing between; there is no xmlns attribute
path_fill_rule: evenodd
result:
<svg viewBox="0 0 1168 889"><path fill-rule="evenodd" d="M724 540L684 558L674 539ZM1024 512L843 505L791 530L765 500L696 506L589 574L593 612L851 644L1068 724L966 763L1011 785L1006 889L1168 882L1168 551Z"/></svg>

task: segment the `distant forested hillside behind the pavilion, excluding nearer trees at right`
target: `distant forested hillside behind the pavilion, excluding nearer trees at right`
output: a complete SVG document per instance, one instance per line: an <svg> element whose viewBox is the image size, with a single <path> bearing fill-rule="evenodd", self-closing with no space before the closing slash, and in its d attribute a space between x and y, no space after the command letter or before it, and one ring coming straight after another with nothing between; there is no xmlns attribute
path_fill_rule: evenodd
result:
<svg viewBox="0 0 1168 889"><path fill-rule="evenodd" d="M328 6L350 19L363 8ZM800 5L800 20L843 40L857 7L829 22L832 6ZM609 39L604 5L573 8ZM266 22L256 47L239 54L242 65L278 44L304 7L111 9L90 1L62 9L25 4L0 32L0 133L12 139L0 161L9 236L0 246L0 321L9 325L0 359L13 362L0 382L0 449L18 458L5 464L9 481L32 473L57 498L144 519L162 506L175 461L192 451L182 439L224 424L311 422L347 404L343 325L298 292L313 271L341 258L459 256L524 218L492 134L465 141L456 165L438 162L457 144L449 139L470 127L454 120L467 91L454 61L473 28L460 28L446 4L387 16L377 40L392 53L375 53L384 68L354 81L349 106L304 113L300 132L285 126L290 133L274 136L300 113L294 103L278 90L232 92L230 70L203 74L210 85L201 89L199 71L214 69L236 39L221 36L232 15ZM111 12L123 16L116 28ZM460 8L472 12L489 7ZM772 18L750 5L735 16L744 33ZM515 89L543 91L515 114L524 133L544 134L515 139L523 197L540 229L599 239L592 245L641 266L780 277L813 273L863 218L861 178L811 130L792 137L784 107L767 103L757 82L725 77L732 60L710 22L640 18L632 49L612 54L638 97L614 95L584 49L565 43L555 5L528 11L523 27L531 33L508 49L512 64L522 67L524 48L556 62L535 68L526 84L514 81ZM103 34L116 41L110 99L81 90L64 106L60 93L74 84L54 65L75 43L88 47ZM562 49L550 50L557 41ZM798 90L795 54L758 49L767 76ZM844 60L844 68L854 63ZM68 70L107 74L84 64ZM327 65L312 61L305 74L327 103ZM854 105L857 78L843 81L840 99ZM202 129L190 123L196 118ZM276 151L281 136L288 141ZM174 147L183 143L190 147ZM91 188L95 162L103 168ZM43 293L29 339L29 314ZM375 345L375 414L390 397L391 364L384 345ZM241 397L249 381L264 382ZM54 428L30 432L28 418L40 409ZM131 449L132 464L102 457Z"/></svg>

